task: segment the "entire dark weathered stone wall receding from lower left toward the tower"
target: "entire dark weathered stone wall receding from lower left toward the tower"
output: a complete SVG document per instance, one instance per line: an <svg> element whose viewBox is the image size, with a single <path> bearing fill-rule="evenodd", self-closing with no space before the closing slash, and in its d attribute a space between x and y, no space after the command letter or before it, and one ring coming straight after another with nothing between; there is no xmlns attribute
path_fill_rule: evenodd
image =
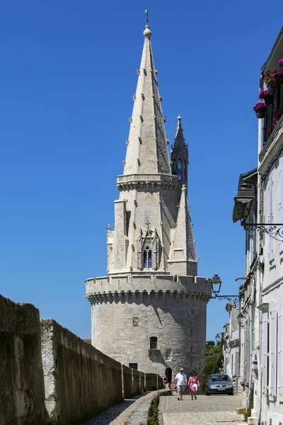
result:
<svg viewBox="0 0 283 425"><path fill-rule="evenodd" d="M77 423L157 382L0 295L0 425Z"/></svg>

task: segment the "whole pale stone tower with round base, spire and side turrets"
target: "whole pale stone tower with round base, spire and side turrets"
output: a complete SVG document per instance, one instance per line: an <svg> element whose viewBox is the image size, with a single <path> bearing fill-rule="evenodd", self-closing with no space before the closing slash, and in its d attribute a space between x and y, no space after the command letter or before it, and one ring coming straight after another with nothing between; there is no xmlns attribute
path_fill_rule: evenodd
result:
<svg viewBox="0 0 283 425"><path fill-rule="evenodd" d="M162 96L144 30L124 173L117 176L108 276L86 280L92 344L144 372L202 372L210 280L197 276L181 118L168 156Z"/></svg>

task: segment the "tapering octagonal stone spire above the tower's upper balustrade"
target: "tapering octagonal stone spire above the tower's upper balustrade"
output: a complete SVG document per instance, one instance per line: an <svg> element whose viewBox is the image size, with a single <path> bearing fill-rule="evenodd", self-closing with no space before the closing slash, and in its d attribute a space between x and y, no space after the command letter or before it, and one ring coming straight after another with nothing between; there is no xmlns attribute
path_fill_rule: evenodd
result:
<svg viewBox="0 0 283 425"><path fill-rule="evenodd" d="M146 24L141 66L137 70L139 78L134 95L134 108L132 117L129 118L124 175L171 174L165 118L161 108L150 38L151 30Z"/></svg>

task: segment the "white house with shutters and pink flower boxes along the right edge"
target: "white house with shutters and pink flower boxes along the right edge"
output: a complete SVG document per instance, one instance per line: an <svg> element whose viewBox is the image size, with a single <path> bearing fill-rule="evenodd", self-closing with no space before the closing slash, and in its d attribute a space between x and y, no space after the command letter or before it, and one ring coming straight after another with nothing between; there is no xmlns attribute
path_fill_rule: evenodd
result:
<svg viewBox="0 0 283 425"><path fill-rule="evenodd" d="M259 119L257 183L246 197L238 193L234 208L247 231L240 290L246 319L242 367L249 359L244 405L253 402L251 421L268 425L283 424L283 77L274 74L282 57L283 28L262 67L260 91L269 89L272 96Z"/></svg>

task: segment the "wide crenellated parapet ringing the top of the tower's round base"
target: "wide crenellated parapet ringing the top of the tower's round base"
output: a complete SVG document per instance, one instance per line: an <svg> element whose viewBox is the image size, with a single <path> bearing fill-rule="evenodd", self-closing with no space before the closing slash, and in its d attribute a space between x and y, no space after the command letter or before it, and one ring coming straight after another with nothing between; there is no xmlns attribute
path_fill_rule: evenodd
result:
<svg viewBox="0 0 283 425"><path fill-rule="evenodd" d="M129 280L128 280L129 279ZM90 278L86 280L86 298L91 304L107 302L151 302L151 300L173 300L209 302L210 279L199 276L115 276L112 278Z"/></svg>

